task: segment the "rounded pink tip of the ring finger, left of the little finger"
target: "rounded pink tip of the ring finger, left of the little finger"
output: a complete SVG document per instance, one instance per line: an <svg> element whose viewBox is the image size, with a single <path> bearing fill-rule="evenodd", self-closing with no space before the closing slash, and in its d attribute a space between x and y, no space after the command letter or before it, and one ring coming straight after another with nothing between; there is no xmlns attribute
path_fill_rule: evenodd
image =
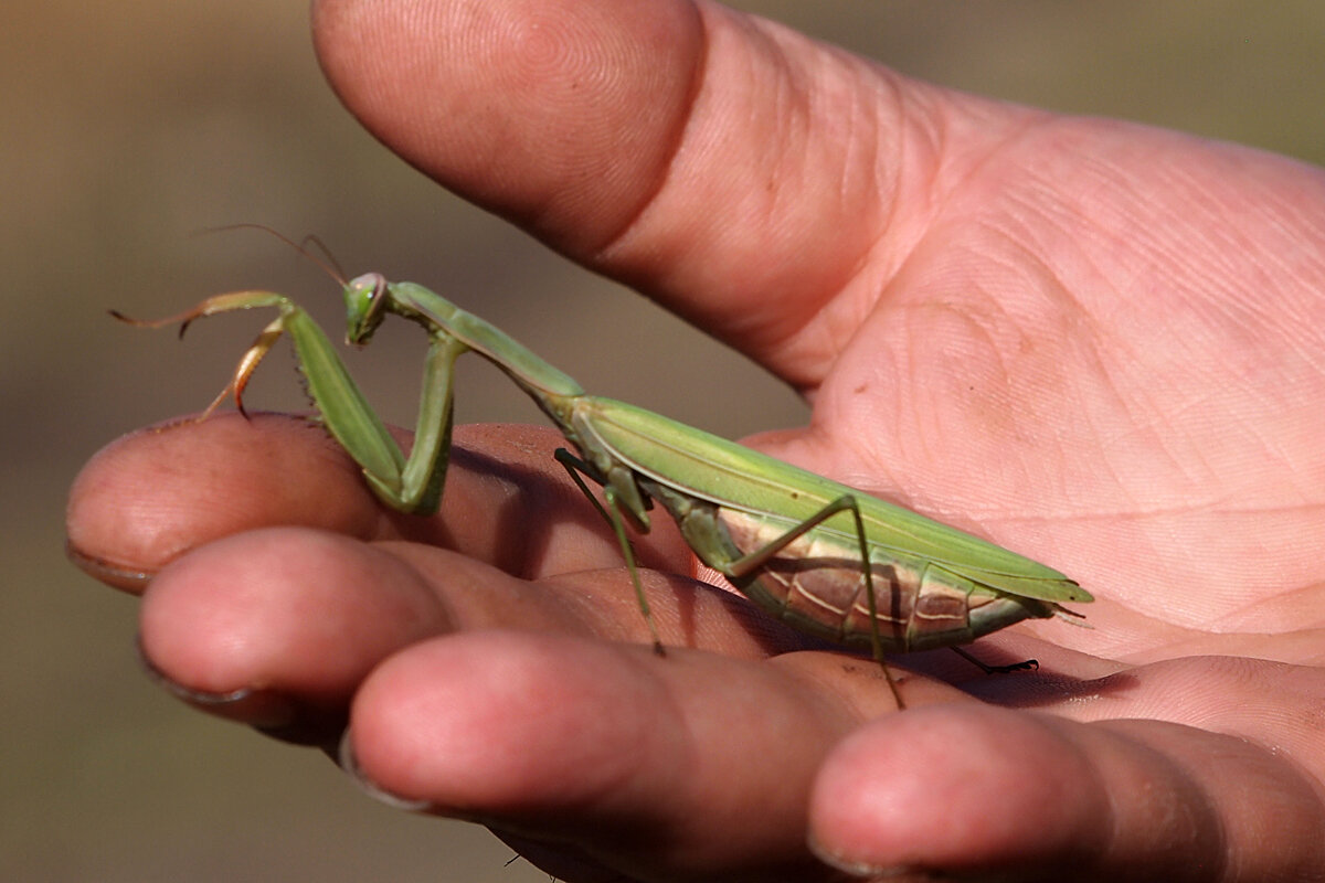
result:
<svg viewBox="0 0 1325 883"><path fill-rule="evenodd" d="M621 653L494 630L420 643L355 696L355 764L398 800L555 822L620 781L641 752L636 724L648 715ZM615 714L594 714L603 708Z"/></svg>

